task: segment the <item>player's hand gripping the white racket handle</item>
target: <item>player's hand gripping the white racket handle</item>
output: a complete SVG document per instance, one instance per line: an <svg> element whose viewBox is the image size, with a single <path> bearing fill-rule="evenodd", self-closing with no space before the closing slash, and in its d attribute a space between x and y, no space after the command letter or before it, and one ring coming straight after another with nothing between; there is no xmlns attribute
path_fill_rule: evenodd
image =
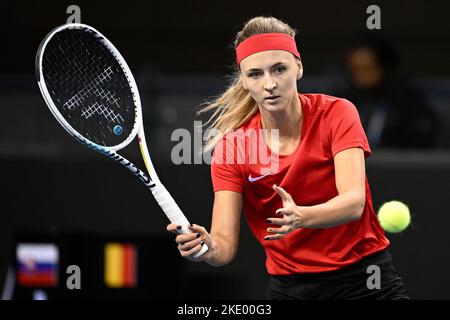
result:
<svg viewBox="0 0 450 320"><path fill-rule="evenodd" d="M181 256L195 262L208 261L211 257L212 239L204 227L193 224L189 226L191 233L179 233L181 226L171 223L167 226L167 231L177 234L175 241L178 243L178 251ZM208 251L200 257L194 258L204 245L208 246Z"/></svg>

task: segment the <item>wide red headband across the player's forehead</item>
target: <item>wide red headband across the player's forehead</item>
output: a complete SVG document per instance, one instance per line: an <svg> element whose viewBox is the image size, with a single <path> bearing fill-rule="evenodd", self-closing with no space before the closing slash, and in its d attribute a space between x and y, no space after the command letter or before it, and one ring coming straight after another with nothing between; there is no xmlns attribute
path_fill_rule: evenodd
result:
<svg viewBox="0 0 450 320"><path fill-rule="evenodd" d="M245 39L237 46L237 64L239 66L243 59L254 53L269 50L289 51L294 56L301 59L293 37L285 33L262 33Z"/></svg>

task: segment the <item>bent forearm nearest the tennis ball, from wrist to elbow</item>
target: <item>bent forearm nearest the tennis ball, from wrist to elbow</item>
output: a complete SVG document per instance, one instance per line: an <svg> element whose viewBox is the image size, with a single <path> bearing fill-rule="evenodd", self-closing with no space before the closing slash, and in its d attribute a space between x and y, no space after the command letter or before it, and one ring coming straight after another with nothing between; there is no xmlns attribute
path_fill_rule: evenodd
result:
<svg viewBox="0 0 450 320"><path fill-rule="evenodd" d="M357 220L365 206L365 194L357 191L342 193L315 206L299 206L303 228L331 228Z"/></svg>

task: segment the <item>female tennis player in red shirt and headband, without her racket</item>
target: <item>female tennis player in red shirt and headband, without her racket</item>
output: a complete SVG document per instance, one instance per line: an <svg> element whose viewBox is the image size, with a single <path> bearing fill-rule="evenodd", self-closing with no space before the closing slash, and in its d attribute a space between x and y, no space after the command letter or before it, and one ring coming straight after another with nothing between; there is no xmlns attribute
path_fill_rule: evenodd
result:
<svg viewBox="0 0 450 320"><path fill-rule="evenodd" d="M298 93L294 36L273 17L238 32L234 82L202 110L214 111L210 128L220 133L205 146L214 148L211 230L192 225L192 234L177 235L178 249L189 260L229 263L244 207L267 255L267 298L408 299L373 209L364 162L371 150L357 109ZM251 161L261 143L275 161ZM193 258L205 243L209 251Z"/></svg>

